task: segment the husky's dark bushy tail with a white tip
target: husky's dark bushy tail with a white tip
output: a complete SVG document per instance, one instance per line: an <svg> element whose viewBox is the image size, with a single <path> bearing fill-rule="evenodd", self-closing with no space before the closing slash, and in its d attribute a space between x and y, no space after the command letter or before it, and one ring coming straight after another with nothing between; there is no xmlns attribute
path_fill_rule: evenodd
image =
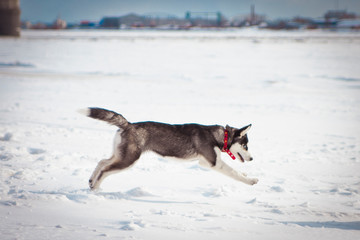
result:
<svg viewBox="0 0 360 240"><path fill-rule="evenodd" d="M122 129L126 128L129 125L129 122L121 114L103 108L91 107L81 109L78 112L91 118L103 120Z"/></svg>

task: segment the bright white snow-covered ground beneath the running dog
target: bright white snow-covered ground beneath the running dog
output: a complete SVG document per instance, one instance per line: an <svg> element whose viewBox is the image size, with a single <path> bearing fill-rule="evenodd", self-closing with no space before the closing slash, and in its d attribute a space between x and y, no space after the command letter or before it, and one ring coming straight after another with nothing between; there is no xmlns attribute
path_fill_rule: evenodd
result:
<svg viewBox="0 0 360 240"><path fill-rule="evenodd" d="M24 31L0 39L1 239L359 239L360 34ZM252 123L248 186L144 155L88 189L129 121Z"/></svg>

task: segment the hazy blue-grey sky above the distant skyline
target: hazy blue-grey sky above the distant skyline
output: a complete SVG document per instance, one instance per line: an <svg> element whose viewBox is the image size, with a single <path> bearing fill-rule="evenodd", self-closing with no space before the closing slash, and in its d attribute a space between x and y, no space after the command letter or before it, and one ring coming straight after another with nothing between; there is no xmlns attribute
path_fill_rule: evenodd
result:
<svg viewBox="0 0 360 240"><path fill-rule="evenodd" d="M321 17L333 9L360 15L360 0L20 0L21 19L31 22L52 22L58 16L67 22L99 21L128 13L184 17L186 11L220 11L232 18L248 14L252 4L268 19Z"/></svg>

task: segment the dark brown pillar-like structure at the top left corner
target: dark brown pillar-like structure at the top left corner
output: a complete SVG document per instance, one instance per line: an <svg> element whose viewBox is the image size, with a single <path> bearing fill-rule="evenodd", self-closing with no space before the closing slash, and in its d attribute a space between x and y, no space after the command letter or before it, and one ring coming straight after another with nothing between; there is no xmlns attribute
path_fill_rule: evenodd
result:
<svg viewBox="0 0 360 240"><path fill-rule="evenodd" d="M0 0L0 35L20 36L19 0Z"/></svg>

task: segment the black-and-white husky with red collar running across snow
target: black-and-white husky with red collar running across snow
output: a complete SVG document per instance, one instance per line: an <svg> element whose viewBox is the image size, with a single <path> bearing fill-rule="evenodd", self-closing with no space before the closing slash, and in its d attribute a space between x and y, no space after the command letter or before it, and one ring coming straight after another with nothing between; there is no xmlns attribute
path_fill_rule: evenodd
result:
<svg viewBox="0 0 360 240"><path fill-rule="evenodd" d="M130 167L141 154L153 151L163 157L184 160L198 159L199 164L223 173L235 180L254 185L256 178L248 178L223 160L221 152L227 152L241 162L252 161L248 152L247 132L251 124L241 129L218 125L199 124L170 125L159 122L128 122L121 114L102 108L87 108L81 113L119 127L114 140L114 152L110 159L100 161L90 180L91 190L99 188L105 177ZM235 155L235 156L234 156Z"/></svg>

